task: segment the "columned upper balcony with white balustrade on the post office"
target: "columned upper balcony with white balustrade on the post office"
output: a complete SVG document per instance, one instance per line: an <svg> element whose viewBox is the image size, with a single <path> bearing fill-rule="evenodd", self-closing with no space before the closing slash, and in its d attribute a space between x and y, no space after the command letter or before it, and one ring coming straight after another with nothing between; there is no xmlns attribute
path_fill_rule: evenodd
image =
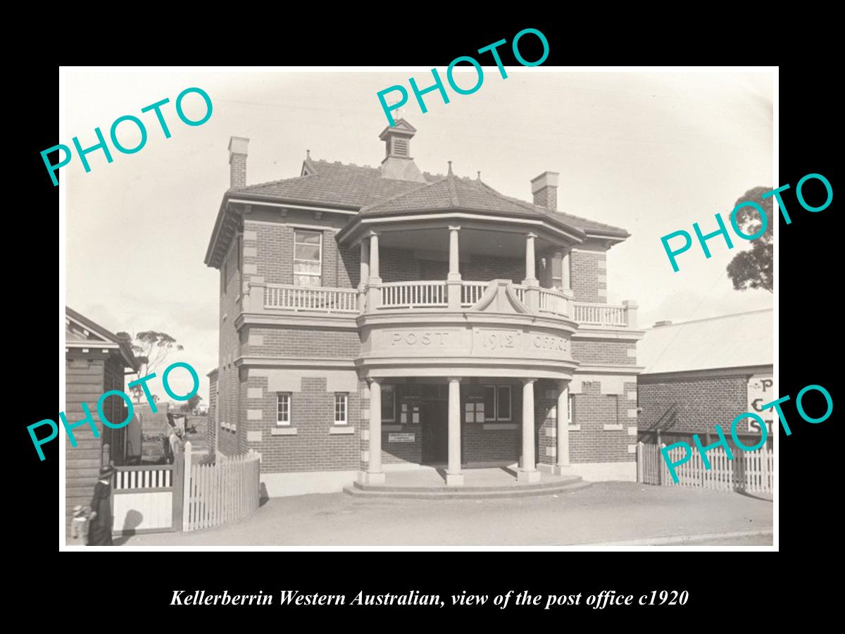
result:
<svg viewBox="0 0 845 634"><path fill-rule="evenodd" d="M636 328L634 302L575 301L570 288L570 249L564 246L564 238L548 232L520 227L481 229L472 224L432 226L429 222L421 227L370 230L358 238L358 244L362 283L357 288L251 281L243 311L335 318L384 315L377 318L382 321L390 315L394 323L401 323L423 314L473 314L482 307L494 312L489 304L499 293L513 304L508 312L557 320L564 327ZM384 255L390 255L384 267L388 279L418 273L439 279L384 281ZM504 278L503 272L510 278Z"/></svg>

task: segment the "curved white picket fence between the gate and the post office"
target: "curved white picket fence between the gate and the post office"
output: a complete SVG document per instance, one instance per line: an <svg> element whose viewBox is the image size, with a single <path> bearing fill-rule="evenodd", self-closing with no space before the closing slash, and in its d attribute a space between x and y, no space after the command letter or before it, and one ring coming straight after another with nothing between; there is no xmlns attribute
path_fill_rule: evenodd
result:
<svg viewBox="0 0 845 634"><path fill-rule="evenodd" d="M183 531L235 522L259 507L261 454L218 454L215 464L191 464L185 443Z"/></svg>

